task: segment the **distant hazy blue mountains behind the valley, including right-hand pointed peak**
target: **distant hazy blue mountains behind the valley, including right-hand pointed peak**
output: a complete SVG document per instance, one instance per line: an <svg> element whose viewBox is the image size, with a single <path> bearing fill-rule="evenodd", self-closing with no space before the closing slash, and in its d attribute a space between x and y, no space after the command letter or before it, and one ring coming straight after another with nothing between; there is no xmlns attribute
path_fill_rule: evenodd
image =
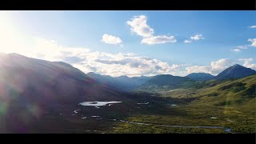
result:
<svg viewBox="0 0 256 144"><path fill-rule="evenodd" d="M173 76L171 74L159 74L153 77L132 77L127 76L111 77L109 75L95 74L93 72L88 73L91 78L94 78L97 82L101 82L107 86L114 88L115 90L130 91L135 89L152 89L156 86L168 86L169 89L175 88L187 88L195 86L198 81L208 80L225 80L231 78L244 78L250 75L256 74L255 70L246 68L244 66L235 64L230 66L226 70L223 70L217 76L206 73L192 73L185 77Z"/></svg>

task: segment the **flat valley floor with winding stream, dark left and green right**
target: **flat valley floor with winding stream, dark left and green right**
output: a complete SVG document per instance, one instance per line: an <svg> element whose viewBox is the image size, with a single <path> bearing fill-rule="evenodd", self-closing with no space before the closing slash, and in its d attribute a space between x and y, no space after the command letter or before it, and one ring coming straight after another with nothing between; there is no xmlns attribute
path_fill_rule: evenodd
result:
<svg viewBox="0 0 256 144"><path fill-rule="evenodd" d="M112 106L62 105L7 133L255 133L256 107L208 106L196 99L138 97ZM22 127L22 126L21 126ZM3 130L3 129L2 129ZM3 132L3 131L2 131Z"/></svg>

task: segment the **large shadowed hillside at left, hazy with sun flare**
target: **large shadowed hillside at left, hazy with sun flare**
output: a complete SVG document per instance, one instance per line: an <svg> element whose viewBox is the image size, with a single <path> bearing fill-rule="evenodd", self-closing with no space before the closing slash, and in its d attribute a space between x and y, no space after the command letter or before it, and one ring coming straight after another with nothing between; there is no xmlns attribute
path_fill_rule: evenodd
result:
<svg viewBox="0 0 256 144"><path fill-rule="evenodd" d="M19 54L0 58L2 95L34 99L35 102L81 101L115 98L114 90L102 86L81 70L64 62L48 62ZM118 97L117 97L118 98Z"/></svg>

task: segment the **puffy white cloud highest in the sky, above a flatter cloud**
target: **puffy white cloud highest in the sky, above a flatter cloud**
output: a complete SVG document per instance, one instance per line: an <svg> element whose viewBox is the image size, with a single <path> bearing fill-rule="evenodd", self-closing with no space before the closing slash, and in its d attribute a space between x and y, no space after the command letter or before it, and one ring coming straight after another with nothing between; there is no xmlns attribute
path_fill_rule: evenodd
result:
<svg viewBox="0 0 256 144"><path fill-rule="evenodd" d="M130 26L130 30L132 32L144 38L148 38L153 36L154 30L146 24L146 20L147 18L145 15L140 15L140 16L135 16L130 21L127 21L126 23Z"/></svg>

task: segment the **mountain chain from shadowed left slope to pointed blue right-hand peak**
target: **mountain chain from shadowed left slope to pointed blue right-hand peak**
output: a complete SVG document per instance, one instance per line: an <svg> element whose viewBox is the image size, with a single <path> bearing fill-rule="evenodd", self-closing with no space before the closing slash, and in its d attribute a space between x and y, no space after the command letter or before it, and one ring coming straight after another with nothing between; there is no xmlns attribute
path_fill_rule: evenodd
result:
<svg viewBox="0 0 256 144"><path fill-rule="evenodd" d="M154 86L186 88L196 86L202 80L218 81L256 74L255 70L236 64L217 76L194 73L186 77L170 74L111 77L92 72L84 74L65 62L49 62L20 54L0 54L0 68L2 95L26 95L27 99L38 102L118 99L118 91L150 89ZM22 101L26 101L26 98L22 98Z"/></svg>

